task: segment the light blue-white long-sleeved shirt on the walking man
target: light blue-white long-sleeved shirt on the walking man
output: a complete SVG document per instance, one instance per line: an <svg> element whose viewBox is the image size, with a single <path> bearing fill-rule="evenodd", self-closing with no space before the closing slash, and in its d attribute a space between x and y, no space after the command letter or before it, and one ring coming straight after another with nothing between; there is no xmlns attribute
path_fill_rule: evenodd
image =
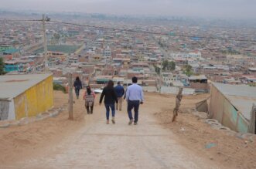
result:
<svg viewBox="0 0 256 169"><path fill-rule="evenodd" d="M143 102L144 96L142 86L139 86L137 83L128 86L125 97L126 100L140 100Z"/></svg>

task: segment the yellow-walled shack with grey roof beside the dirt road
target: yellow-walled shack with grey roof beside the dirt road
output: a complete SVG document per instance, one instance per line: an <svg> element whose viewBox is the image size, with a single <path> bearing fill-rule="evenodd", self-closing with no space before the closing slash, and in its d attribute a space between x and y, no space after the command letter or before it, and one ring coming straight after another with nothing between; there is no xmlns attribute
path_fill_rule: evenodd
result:
<svg viewBox="0 0 256 169"><path fill-rule="evenodd" d="M52 74L0 76L0 120L34 117L52 107Z"/></svg>

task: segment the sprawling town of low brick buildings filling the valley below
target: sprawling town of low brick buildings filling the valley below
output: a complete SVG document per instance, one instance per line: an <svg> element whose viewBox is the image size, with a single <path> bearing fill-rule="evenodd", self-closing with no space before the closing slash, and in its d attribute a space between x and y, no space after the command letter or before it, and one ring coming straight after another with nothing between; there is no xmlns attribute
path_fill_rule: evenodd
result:
<svg viewBox="0 0 256 169"><path fill-rule="evenodd" d="M41 15L38 22L1 22L5 72L42 73L46 66L55 83L65 85L72 72L93 88L102 88L109 79L128 85L138 76L145 90L161 93L176 93L181 86L190 94L208 92L211 82L255 85L253 27L230 23L222 28L218 21L195 24L179 18L119 22L101 15L67 17L70 24L46 21L47 56Z"/></svg>

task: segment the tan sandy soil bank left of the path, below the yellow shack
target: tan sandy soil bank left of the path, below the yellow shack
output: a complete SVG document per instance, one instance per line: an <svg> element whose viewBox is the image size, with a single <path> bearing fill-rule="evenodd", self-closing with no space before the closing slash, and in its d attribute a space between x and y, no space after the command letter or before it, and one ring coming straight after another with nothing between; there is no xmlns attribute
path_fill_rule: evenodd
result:
<svg viewBox="0 0 256 169"><path fill-rule="evenodd" d="M67 94L54 92L54 106L67 105ZM67 120L67 113L24 126L0 129L0 168L3 164L22 161L56 146L61 140L84 124L84 111L74 107L74 121Z"/></svg>

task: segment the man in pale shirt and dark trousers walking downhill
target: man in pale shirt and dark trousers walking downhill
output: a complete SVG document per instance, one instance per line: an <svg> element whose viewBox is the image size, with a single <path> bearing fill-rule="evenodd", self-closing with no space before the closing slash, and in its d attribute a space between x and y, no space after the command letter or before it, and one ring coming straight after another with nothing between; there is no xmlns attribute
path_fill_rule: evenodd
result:
<svg viewBox="0 0 256 169"><path fill-rule="evenodd" d="M142 86L139 86L137 84L138 79L137 77L132 77L132 85L128 86L126 91L126 101L128 103L127 111L128 111L128 117L129 117L129 125L131 125L132 122L134 122L135 125L138 123L138 107L139 104L143 104L144 96L143 96L143 90ZM135 110L135 119L133 120L131 110Z"/></svg>

